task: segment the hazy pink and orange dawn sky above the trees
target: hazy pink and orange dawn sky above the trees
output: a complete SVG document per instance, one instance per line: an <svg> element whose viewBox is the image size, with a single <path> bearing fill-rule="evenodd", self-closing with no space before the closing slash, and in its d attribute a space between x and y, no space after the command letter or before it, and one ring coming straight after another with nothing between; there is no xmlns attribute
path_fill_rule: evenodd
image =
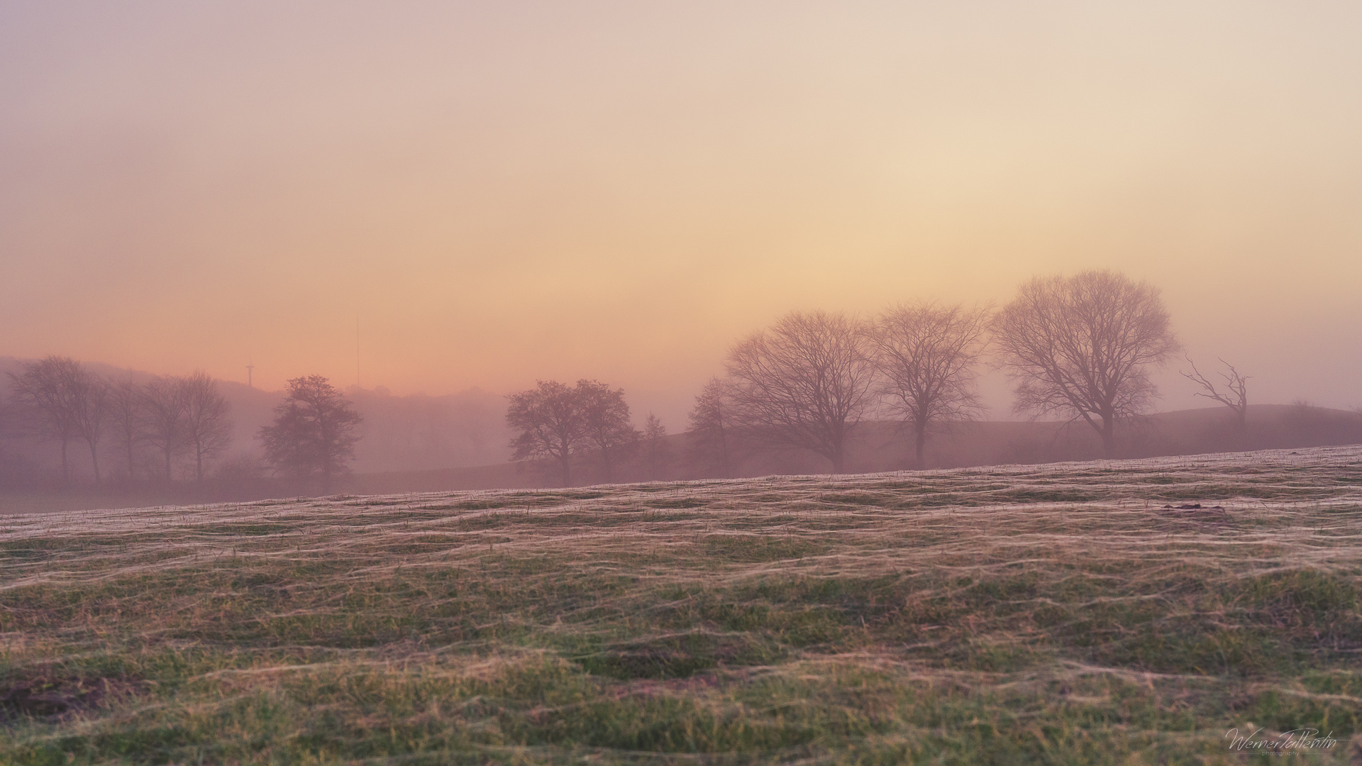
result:
<svg viewBox="0 0 1362 766"><path fill-rule="evenodd" d="M1114 269L1254 402L1362 405L1358 40L1312 0L0 0L0 356L594 378L676 431L787 311Z"/></svg>

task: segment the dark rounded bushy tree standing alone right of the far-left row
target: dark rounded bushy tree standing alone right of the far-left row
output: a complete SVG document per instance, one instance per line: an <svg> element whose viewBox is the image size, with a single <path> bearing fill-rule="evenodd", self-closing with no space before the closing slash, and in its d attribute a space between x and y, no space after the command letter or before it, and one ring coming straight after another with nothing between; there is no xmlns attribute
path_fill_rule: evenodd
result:
<svg viewBox="0 0 1362 766"><path fill-rule="evenodd" d="M260 428L264 459L296 478L321 477L321 491L350 470L360 440L360 413L321 375L289 380L289 395L274 408L274 424Z"/></svg>

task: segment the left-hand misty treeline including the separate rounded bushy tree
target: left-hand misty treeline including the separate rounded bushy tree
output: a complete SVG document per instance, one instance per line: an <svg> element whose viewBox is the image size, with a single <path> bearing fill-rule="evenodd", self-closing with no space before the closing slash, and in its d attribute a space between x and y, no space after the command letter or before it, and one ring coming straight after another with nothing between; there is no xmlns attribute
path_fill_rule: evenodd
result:
<svg viewBox="0 0 1362 766"><path fill-rule="evenodd" d="M76 463L95 485L199 482L249 484L267 474L320 478L323 488L350 470L360 414L319 375L289 380L274 420L259 428L263 459L238 454L232 405L203 372L139 380L101 375L79 361L48 356L8 373L3 425L10 436L53 440L60 480L72 485ZM12 466L12 463L11 463ZM82 466L82 468L84 468ZM31 484L35 470L26 478ZM8 484L18 484L14 476Z"/></svg>

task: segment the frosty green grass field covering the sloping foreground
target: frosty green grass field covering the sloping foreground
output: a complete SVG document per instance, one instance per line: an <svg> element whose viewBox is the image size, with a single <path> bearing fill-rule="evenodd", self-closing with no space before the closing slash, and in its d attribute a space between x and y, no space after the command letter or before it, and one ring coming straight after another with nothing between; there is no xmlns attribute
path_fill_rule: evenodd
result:
<svg viewBox="0 0 1362 766"><path fill-rule="evenodd" d="M1347 763L1359 608L1362 447L10 517L0 763Z"/></svg>

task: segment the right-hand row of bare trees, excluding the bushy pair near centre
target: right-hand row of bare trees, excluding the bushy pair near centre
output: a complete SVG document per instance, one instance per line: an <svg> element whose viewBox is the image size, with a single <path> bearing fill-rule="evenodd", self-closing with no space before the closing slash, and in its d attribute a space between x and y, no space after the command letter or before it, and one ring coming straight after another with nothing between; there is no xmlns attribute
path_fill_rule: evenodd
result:
<svg viewBox="0 0 1362 766"><path fill-rule="evenodd" d="M932 303L868 322L794 312L730 350L727 376L696 398L692 442L720 470L742 439L810 450L842 472L847 435L873 413L913 429L921 468L933 424L979 414L975 378L986 348L1015 383L1017 412L1081 420L1110 457L1117 424L1158 394L1150 371L1181 346L1159 290L1113 271L1031 279L996 312ZM1188 376L1242 420L1238 372L1227 378L1230 394L1200 372Z"/></svg>

